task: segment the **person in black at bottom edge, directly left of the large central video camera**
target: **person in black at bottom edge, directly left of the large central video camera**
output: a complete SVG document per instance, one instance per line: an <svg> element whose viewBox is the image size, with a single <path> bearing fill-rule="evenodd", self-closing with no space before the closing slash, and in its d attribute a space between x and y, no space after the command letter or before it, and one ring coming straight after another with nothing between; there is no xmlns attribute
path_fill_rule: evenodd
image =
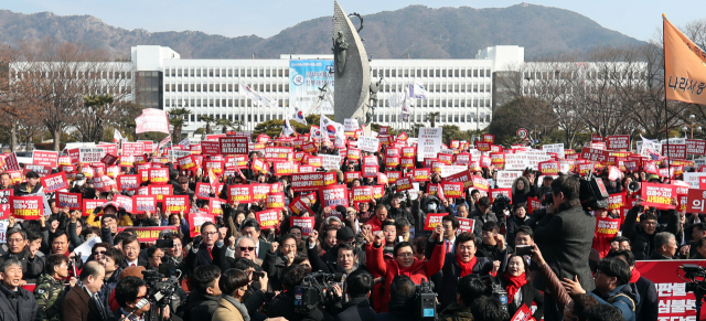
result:
<svg viewBox="0 0 706 321"><path fill-rule="evenodd" d="M285 291L279 293L272 299L271 302L265 306L265 314L267 315L267 318L284 317L289 321L333 321L333 317L331 317L325 310L322 310L319 307L312 309L307 314L296 312L295 290L297 286L300 286L302 283L306 276L307 269L301 265L291 265L285 268L281 279L282 288L285 289Z"/></svg>

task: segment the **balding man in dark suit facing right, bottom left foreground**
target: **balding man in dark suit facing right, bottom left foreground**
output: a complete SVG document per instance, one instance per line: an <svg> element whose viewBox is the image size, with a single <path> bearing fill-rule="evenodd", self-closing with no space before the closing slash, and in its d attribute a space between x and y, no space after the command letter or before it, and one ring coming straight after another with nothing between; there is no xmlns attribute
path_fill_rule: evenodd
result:
<svg viewBox="0 0 706 321"><path fill-rule="evenodd" d="M63 321L101 321L113 317L98 297L105 276L105 268L97 261L84 266L79 276L82 286L73 287L64 298Z"/></svg>

